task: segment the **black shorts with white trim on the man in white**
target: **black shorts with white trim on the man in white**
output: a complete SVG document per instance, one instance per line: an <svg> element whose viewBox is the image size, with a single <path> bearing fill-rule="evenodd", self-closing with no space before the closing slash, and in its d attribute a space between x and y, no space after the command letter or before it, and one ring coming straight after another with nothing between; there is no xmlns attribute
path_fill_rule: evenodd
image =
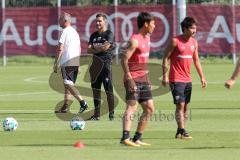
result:
<svg viewBox="0 0 240 160"><path fill-rule="evenodd" d="M74 85L77 80L79 66L63 66L61 68L63 83L66 85Z"/></svg>

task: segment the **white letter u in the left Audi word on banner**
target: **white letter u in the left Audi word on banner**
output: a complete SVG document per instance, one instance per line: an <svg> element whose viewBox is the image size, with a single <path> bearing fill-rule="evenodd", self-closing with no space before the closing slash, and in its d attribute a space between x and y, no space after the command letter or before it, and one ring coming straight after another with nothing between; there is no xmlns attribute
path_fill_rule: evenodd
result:
<svg viewBox="0 0 240 160"><path fill-rule="evenodd" d="M30 39L31 31L29 26L24 26L24 41L29 46L42 45L43 44L43 26L37 27L37 38L35 40Z"/></svg>

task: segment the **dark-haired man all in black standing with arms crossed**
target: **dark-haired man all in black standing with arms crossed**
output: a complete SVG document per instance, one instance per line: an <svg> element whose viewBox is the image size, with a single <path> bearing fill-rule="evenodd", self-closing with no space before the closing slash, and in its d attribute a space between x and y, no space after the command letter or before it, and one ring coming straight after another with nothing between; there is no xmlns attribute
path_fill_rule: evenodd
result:
<svg viewBox="0 0 240 160"><path fill-rule="evenodd" d="M107 16L96 15L96 29L88 42L88 53L93 55L90 67L91 87L94 98L94 115L91 120L99 120L101 105L101 85L103 83L109 109L109 120L114 119L114 96L112 85L112 55L115 49L113 33L107 29ZM86 108L82 108L84 111Z"/></svg>

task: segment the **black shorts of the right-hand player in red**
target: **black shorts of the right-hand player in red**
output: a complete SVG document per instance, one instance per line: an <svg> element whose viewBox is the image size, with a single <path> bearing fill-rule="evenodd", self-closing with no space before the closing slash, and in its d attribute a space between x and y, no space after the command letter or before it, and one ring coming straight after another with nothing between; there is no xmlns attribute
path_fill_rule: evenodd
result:
<svg viewBox="0 0 240 160"><path fill-rule="evenodd" d="M172 82L170 83L174 104L186 103L191 100L192 83L191 82Z"/></svg>

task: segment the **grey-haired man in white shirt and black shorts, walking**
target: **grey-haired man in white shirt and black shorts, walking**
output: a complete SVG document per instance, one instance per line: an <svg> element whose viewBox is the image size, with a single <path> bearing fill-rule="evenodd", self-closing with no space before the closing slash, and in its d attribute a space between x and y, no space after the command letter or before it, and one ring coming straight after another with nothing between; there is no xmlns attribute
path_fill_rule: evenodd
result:
<svg viewBox="0 0 240 160"><path fill-rule="evenodd" d="M71 103L72 95L79 101L80 108L88 108L86 101L82 98L75 87L80 61L80 38L77 31L71 26L71 15L63 13L59 18L59 25L63 28L59 44L57 46L53 70L57 73L58 65L61 67L65 95L64 104L55 113L67 113ZM82 113L83 111L79 111Z"/></svg>

